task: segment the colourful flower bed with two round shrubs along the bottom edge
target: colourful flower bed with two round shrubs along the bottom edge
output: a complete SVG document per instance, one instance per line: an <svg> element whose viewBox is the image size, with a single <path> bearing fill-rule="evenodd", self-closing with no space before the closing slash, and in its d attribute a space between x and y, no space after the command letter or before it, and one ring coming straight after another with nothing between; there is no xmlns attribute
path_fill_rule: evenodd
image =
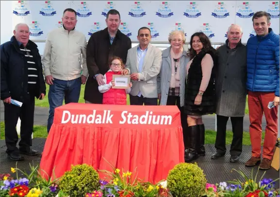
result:
<svg viewBox="0 0 280 197"><path fill-rule="evenodd" d="M230 182L210 184L197 164L180 163L168 174L167 180L156 184L137 179L132 172L112 167L105 180L89 165L72 166L61 178L46 180L38 166L30 166L31 173L11 168L15 173L0 175L0 197L279 197L275 181L246 177ZM19 178L18 173L25 178ZM252 172L253 174L253 172ZM263 174L264 175L264 174Z"/></svg>

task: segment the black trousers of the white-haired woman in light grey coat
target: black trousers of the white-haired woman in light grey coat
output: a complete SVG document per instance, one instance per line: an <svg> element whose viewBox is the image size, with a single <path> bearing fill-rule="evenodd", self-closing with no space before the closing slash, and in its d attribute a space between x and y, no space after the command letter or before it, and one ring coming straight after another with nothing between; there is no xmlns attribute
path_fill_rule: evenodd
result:
<svg viewBox="0 0 280 197"><path fill-rule="evenodd" d="M180 106L180 96L168 96L167 97L167 106L177 106L180 110L180 115L181 115L181 125L183 129L183 135L186 135L187 133L187 128L188 128L188 123L187 123L187 114L184 112L184 106ZM187 138L184 137L184 145L185 149L187 149L188 143L186 142Z"/></svg>

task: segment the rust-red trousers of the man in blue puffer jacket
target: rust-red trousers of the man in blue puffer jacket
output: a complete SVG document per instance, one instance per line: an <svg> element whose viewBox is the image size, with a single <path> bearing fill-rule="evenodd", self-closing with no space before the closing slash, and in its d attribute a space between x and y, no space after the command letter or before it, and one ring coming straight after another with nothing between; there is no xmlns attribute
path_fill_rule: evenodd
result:
<svg viewBox="0 0 280 197"><path fill-rule="evenodd" d="M274 92L249 91L248 93L249 118L251 123L249 131L253 157L261 157L263 112L266 120L266 127L262 158L271 160L273 157L273 148L278 133L278 106L269 109L267 105L268 102L274 100L274 97Z"/></svg>

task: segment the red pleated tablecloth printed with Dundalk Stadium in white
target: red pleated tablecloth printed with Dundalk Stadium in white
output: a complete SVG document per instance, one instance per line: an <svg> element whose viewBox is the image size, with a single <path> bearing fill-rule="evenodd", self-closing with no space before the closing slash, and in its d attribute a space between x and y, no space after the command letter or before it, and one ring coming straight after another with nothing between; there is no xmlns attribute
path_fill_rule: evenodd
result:
<svg viewBox="0 0 280 197"><path fill-rule="evenodd" d="M51 177L54 168L55 177L61 177L71 164L82 163L112 171L108 162L125 171L136 170L146 181L166 179L169 170L184 162L179 109L77 103L55 108L42 172Z"/></svg>

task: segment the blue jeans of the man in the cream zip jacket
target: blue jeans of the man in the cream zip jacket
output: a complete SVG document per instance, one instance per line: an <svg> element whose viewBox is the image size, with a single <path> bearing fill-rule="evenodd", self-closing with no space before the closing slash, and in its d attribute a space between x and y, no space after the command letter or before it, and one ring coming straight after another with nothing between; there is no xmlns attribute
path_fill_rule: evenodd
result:
<svg viewBox="0 0 280 197"><path fill-rule="evenodd" d="M81 92L81 77L70 81L54 79L53 85L49 89L49 118L48 118L48 133L53 125L53 116L55 107L62 106L63 99L65 104L78 103Z"/></svg>

